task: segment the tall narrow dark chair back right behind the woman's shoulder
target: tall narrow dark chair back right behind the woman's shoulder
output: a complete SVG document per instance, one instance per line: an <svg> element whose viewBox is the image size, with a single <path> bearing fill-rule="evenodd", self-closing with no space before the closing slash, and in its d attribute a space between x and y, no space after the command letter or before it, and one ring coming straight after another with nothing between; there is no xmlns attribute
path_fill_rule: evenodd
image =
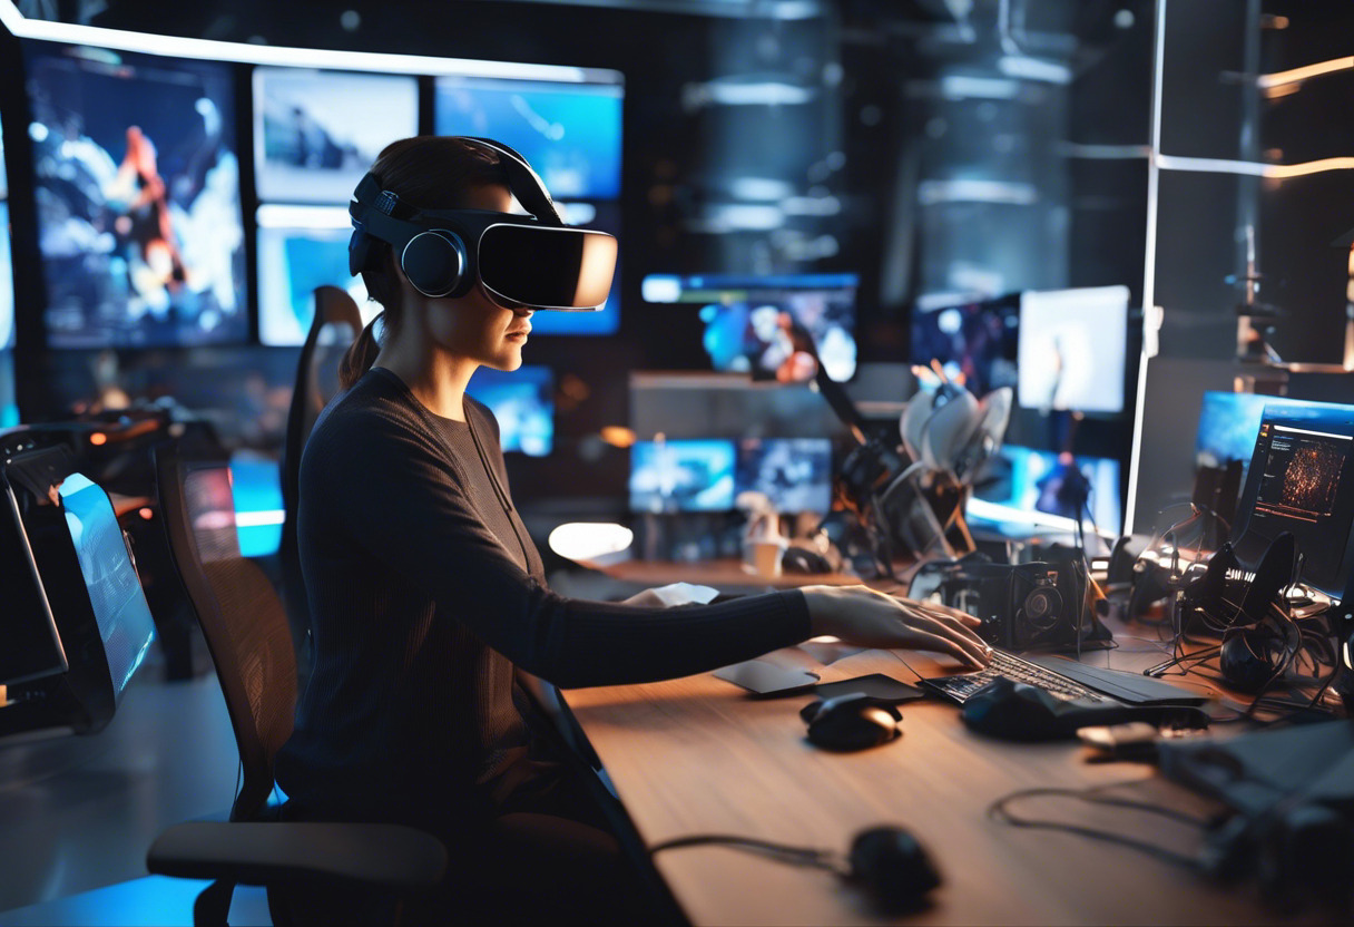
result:
<svg viewBox="0 0 1354 927"><path fill-rule="evenodd" d="M287 411L287 435L282 449L282 598L291 621L292 641L305 657L309 653L310 607L301 579L297 553L297 497L301 482L301 451L315 419L338 393L338 362L362 332L357 304L336 286L315 287L315 314L297 360L297 386Z"/></svg>

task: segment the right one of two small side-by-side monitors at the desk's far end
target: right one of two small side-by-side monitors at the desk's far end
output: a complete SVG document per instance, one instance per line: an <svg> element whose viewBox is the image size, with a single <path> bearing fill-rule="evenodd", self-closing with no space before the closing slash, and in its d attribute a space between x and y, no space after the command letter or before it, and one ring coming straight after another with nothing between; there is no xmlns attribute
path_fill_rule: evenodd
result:
<svg viewBox="0 0 1354 927"><path fill-rule="evenodd" d="M827 438L743 438L734 491L760 492L777 512L825 515L833 504L833 443Z"/></svg>

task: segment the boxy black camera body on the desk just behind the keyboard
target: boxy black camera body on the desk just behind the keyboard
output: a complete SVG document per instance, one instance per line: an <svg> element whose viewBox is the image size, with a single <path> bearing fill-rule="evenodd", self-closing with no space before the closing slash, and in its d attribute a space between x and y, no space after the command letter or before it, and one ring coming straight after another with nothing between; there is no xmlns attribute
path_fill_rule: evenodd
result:
<svg viewBox="0 0 1354 927"><path fill-rule="evenodd" d="M927 566L914 580L911 594L938 595L945 604L975 615L983 622L978 636L988 644L1009 651L1056 651L1075 646L1079 627L1082 641L1101 637L1091 633L1098 626L1082 607L1085 579L1072 561L957 560ZM1083 625L1087 621L1093 623Z"/></svg>

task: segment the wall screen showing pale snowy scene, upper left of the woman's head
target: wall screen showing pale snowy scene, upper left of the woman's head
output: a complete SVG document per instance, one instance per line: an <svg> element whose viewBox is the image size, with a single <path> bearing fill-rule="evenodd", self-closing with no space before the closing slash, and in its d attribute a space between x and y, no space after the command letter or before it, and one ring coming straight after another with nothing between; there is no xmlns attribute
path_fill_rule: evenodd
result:
<svg viewBox="0 0 1354 927"><path fill-rule="evenodd" d="M390 142L418 134L418 79L255 68L259 199L347 203Z"/></svg>

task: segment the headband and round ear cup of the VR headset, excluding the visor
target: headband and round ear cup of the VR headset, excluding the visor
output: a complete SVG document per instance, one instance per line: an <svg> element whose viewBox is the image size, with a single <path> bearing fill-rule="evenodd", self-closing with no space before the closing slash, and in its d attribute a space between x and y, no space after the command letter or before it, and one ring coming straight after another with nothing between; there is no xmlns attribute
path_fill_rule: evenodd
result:
<svg viewBox="0 0 1354 927"><path fill-rule="evenodd" d="M532 225L565 228L555 201L525 157L489 138L456 138L498 156L508 178L508 188L535 217ZM398 194L382 190L380 182L371 173L357 184L348 211L353 224L348 243L349 272L356 276L374 268L375 253L379 253L374 252L374 245L383 241L395 248L399 270L409 278L409 283L424 295L435 298L466 295L478 279L478 255L474 247L478 233L490 222L519 218L483 211L481 224L474 221L481 210L416 209L401 203ZM525 217L519 218L521 220ZM471 247L467 247L467 239L471 240Z"/></svg>

